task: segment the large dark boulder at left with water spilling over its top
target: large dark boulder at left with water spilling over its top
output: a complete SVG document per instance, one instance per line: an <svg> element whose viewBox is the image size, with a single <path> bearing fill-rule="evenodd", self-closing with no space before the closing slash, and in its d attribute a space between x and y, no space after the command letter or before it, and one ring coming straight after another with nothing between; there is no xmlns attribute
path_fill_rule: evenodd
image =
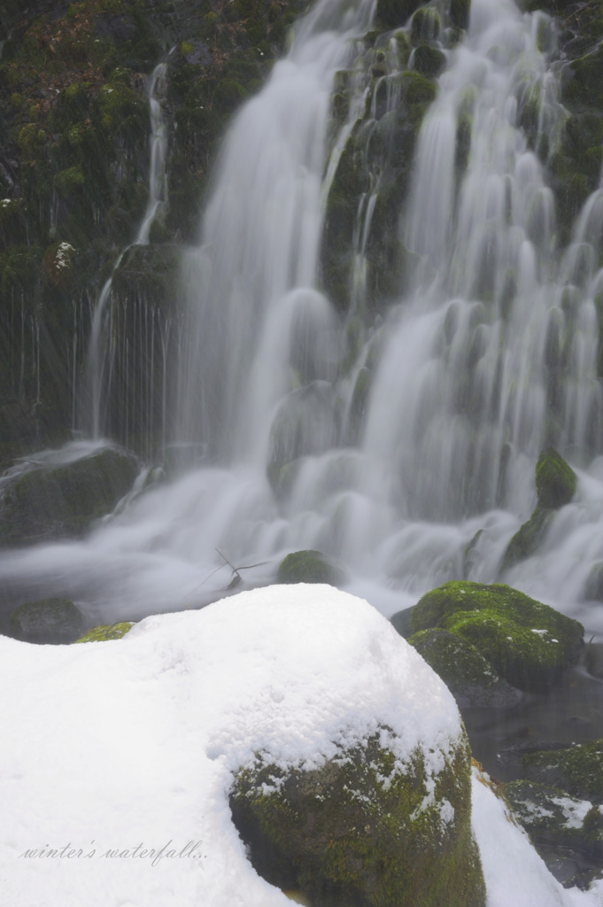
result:
<svg viewBox="0 0 603 907"><path fill-rule="evenodd" d="M138 472L134 457L112 448L73 463L29 470L5 491L0 541L16 545L80 536L93 520L112 511Z"/></svg>

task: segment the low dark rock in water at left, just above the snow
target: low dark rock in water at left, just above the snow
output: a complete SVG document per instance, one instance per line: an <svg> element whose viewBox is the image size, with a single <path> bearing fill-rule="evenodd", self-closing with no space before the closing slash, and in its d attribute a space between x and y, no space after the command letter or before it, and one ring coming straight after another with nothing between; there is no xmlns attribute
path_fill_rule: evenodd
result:
<svg viewBox="0 0 603 907"><path fill-rule="evenodd" d="M82 611L69 599L25 601L11 611L6 635L23 642L62 645L73 642L83 631Z"/></svg>

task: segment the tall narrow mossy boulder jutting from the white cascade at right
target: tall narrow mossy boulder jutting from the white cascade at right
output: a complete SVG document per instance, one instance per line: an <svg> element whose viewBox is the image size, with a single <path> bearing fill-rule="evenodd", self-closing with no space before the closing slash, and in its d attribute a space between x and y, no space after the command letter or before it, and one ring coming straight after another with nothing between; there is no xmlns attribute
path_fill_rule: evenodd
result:
<svg viewBox="0 0 603 907"><path fill-rule="evenodd" d="M540 453L535 473L536 508L512 536L502 559L502 571L537 551L554 512L568 504L576 493L578 477L553 447Z"/></svg>

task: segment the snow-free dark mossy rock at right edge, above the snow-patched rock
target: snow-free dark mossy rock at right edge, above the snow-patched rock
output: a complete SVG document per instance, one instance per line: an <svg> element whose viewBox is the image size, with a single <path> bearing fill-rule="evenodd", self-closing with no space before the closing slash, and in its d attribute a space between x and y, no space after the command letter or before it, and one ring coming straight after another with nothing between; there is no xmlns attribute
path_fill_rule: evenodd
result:
<svg viewBox="0 0 603 907"><path fill-rule="evenodd" d="M530 781L559 787L582 800L603 804L603 739L566 749L527 753L521 759L521 766Z"/></svg>

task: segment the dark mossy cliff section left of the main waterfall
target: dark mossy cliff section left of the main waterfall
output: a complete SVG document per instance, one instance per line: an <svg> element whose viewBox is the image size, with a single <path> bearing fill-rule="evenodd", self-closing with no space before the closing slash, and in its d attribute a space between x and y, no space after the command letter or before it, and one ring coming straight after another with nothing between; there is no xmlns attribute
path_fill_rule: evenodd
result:
<svg viewBox="0 0 603 907"><path fill-rule="evenodd" d="M282 52L299 9L261 0L3 5L0 463L61 441L80 420L74 388L93 307L148 201L151 71L170 54L170 204L150 239L181 243L196 228L229 116ZM135 263L122 285L138 287L144 273ZM165 296L157 275L145 281Z"/></svg>

